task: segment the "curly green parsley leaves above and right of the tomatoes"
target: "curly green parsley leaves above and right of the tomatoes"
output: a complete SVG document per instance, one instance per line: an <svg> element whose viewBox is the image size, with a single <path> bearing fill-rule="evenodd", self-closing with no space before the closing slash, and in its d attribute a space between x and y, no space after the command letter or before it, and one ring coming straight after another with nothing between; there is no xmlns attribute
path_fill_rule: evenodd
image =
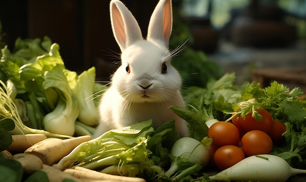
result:
<svg viewBox="0 0 306 182"><path fill-rule="evenodd" d="M272 154L282 157L293 166L306 166L306 101L298 99L304 94L300 88L289 89L274 81L265 88L260 83L245 88L233 110L239 117L252 111L253 117L261 121L256 111L266 109L273 119L279 119L286 126L285 143L274 144Z"/></svg>

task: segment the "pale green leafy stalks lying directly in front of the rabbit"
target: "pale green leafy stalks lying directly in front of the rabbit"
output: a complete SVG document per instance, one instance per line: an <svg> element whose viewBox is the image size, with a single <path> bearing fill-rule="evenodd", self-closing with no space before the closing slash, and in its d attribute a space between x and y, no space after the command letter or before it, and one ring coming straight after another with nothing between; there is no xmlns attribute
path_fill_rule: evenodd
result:
<svg viewBox="0 0 306 182"><path fill-rule="evenodd" d="M74 161L72 166L83 166L90 169L114 165L120 153L132 150L131 148L139 143L146 144L146 137L153 131L152 120L136 123L123 129L110 130L96 139L77 146L58 162L57 166L62 169L68 161Z"/></svg>

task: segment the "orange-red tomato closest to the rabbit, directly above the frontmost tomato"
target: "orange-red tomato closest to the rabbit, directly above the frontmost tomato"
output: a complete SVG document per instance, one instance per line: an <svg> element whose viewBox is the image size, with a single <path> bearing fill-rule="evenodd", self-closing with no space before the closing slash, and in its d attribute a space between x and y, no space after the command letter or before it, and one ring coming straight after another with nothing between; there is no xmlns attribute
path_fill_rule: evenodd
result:
<svg viewBox="0 0 306 182"><path fill-rule="evenodd" d="M237 127L225 121L214 123L208 129L207 136L213 139L213 143L218 146L223 145L238 145L240 134Z"/></svg>

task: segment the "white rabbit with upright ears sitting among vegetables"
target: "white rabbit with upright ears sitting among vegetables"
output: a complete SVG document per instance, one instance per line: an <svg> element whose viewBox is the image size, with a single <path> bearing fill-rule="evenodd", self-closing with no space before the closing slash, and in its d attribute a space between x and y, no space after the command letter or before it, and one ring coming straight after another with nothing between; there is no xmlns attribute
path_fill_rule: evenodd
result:
<svg viewBox="0 0 306 182"><path fill-rule="evenodd" d="M93 137L150 119L155 129L175 119L180 136L188 136L187 122L168 108L185 106L180 94L181 78L170 63L168 50L172 31L171 0L160 0L156 5L147 40L143 39L137 21L121 1L110 1L110 19L122 51L122 64L102 97L101 120Z"/></svg>

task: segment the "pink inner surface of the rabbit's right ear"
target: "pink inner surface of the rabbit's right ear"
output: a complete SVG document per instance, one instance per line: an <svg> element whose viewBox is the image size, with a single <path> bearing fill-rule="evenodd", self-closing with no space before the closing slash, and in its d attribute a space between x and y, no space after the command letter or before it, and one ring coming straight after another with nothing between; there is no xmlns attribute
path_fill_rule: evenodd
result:
<svg viewBox="0 0 306 182"><path fill-rule="evenodd" d="M164 4L164 14L163 14L163 31L164 40L166 44L169 44L169 39L172 31L172 7L171 1L167 0Z"/></svg>

